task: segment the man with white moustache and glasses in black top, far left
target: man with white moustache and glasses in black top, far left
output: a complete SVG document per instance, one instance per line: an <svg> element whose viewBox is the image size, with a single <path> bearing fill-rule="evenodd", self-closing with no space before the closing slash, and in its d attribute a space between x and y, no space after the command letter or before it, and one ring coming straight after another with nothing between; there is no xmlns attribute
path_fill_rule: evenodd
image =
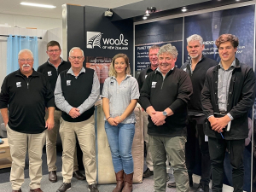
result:
<svg viewBox="0 0 256 192"><path fill-rule="evenodd" d="M45 130L54 126L54 95L44 74L33 70L31 50L20 50L18 62L20 69L3 80L0 93L0 108L13 160L10 182L13 192L21 192L27 150L30 191L42 192L42 149ZM46 121L45 108L49 111Z"/></svg>

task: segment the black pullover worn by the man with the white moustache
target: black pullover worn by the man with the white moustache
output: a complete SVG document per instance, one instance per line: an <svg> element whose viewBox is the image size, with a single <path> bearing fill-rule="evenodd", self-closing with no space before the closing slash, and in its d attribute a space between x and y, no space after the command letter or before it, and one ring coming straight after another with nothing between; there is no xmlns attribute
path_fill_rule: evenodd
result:
<svg viewBox="0 0 256 192"><path fill-rule="evenodd" d="M45 130L45 107L55 107L54 95L44 75L33 71L26 78L20 70L3 80L0 108L9 109L9 128L37 134Z"/></svg>

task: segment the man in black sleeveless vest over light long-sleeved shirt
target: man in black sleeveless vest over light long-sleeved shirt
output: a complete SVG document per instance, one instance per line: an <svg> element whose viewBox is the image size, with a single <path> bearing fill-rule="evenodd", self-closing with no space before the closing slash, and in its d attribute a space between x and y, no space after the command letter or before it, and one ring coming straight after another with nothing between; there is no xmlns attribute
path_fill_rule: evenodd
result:
<svg viewBox="0 0 256 192"><path fill-rule="evenodd" d="M63 119L60 127L63 183L57 192L71 188L76 136L83 152L88 188L90 192L98 192L94 104L100 96L100 83L93 69L83 67L82 49L71 49L68 60L71 68L60 73L55 86L55 104L61 109Z"/></svg>

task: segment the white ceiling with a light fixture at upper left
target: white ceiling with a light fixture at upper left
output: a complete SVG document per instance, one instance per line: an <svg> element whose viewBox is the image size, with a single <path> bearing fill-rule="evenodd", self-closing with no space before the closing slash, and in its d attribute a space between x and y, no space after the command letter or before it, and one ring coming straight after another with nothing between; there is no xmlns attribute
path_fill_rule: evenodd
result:
<svg viewBox="0 0 256 192"><path fill-rule="evenodd" d="M30 15L38 17L62 18L62 4L70 3L100 8L117 8L142 0L0 0L0 14ZM55 9L37 8L20 5L21 2L55 5Z"/></svg>

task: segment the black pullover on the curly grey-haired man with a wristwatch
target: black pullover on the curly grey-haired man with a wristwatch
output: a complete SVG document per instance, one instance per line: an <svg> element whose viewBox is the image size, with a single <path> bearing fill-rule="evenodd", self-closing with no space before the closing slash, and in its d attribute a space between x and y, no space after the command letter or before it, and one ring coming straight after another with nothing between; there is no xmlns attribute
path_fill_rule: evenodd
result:
<svg viewBox="0 0 256 192"><path fill-rule="evenodd" d="M140 92L139 103L143 108L152 106L155 111L171 108L174 113L166 118L164 125L154 125L148 116L148 135L178 137L186 135L187 103L191 96L192 84L189 75L174 67L163 79L159 71L149 73Z"/></svg>

